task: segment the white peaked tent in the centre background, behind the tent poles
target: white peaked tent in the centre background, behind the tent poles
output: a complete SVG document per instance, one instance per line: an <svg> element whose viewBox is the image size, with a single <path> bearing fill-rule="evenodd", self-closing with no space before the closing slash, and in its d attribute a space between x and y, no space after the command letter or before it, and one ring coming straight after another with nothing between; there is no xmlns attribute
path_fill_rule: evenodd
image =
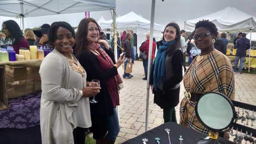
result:
<svg viewBox="0 0 256 144"><path fill-rule="evenodd" d="M112 29L112 19L104 23L101 23L101 29ZM140 44L145 41L146 34L150 30L150 21L142 18L141 16L135 14L134 12L129 12L126 15L120 16L116 19L117 31L122 32L127 29L131 29L133 33L137 34L137 46L139 48ZM154 23L154 38L158 40L161 37L162 26ZM139 52L139 50L138 50Z"/></svg>

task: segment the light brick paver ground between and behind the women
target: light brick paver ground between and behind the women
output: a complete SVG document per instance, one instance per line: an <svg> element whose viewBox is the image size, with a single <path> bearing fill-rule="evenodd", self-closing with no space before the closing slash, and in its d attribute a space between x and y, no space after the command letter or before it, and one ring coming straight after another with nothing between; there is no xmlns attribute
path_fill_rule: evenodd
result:
<svg viewBox="0 0 256 144"><path fill-rule="evenodd" d="M118 69L120 76L123 75L123 68ZM142 61L135 61L133 65L132 79L123 79L124 88L120 91L120 133L116 144L132 139L145 132L146 118L146 80L142 80L144 70ZM256 105L256 75L235 73L236 101ZM182 82L181 82L182 83ZM183 98L183 83L180 89L180 101ZM148 127L153 129L163 124L163 110L154 104L153 94L150 92L150 105L148 116ZM175 108L177 121L180 121L180 104Z"/></svg>

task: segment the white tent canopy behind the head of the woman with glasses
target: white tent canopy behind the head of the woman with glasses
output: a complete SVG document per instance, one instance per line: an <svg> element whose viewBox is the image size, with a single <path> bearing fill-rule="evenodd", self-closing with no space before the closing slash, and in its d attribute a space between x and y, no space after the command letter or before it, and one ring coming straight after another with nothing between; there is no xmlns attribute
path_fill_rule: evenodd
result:
<svg viewBox="0 0 256 144"><path fill-rule="evenodd" d="M210 15L187 20L185 21L184 29L186 31L193 31L195 24L203 19L209 19L215 23L218 31L221 32L239 33L248 32L250 29L256 32L256 18L231 6Z"/></svg>

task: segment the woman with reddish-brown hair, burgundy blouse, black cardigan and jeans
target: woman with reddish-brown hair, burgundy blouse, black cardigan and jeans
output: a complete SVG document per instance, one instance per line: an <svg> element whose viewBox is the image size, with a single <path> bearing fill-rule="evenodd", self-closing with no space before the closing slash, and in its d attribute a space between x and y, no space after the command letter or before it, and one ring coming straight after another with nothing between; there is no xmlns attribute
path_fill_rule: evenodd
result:
<svg viewBox="0 0 256 144"><path fill-rule="evenodd" d="M98 103L90 103L93 138L96 144L114 144L120 130L116 110L118 91L123 87L117 68L124 58L115 62L108 42L99 40L99 31L94 19L82 19L76 32L75 53L87 73L87 81L100 81L101 91L95 96ZM104 45L105 51L100 44Z"/></svg>

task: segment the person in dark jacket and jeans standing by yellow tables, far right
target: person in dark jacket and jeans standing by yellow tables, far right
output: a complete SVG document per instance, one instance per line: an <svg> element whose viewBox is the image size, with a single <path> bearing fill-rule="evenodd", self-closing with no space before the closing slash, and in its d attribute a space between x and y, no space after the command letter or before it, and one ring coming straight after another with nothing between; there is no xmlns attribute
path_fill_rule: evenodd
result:
<svg viewBox="0 0 256 144"><path fill-rule="evenodd" d="M236 72L237 64L238 64L238 61L240 60L238 74L242 73L243 63L246 57L246 50L248 50L250 47L251 47L250 40L246 38L245 33L242 33L242 38L238 39L236 45L234 46L234 48L237 48L236 60L234 63L234 72Z"/></svg>

